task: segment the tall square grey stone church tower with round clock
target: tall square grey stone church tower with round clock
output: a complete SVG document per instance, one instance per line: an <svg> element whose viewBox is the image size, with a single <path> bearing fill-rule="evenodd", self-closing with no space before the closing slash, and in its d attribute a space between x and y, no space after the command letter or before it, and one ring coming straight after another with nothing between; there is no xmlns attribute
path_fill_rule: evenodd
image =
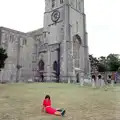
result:
<svg viewBox="0 0 120 120"><path fill-rule="evenodd" d="M45 42L48 44L48 76L80 82L88 70L88 43L84 0L45 0Z"/></svg>

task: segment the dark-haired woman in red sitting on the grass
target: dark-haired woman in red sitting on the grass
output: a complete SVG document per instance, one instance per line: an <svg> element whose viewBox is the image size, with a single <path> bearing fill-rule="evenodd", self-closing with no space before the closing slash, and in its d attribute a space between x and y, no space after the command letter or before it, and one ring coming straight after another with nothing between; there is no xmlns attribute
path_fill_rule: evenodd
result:
<svg viewBox="0 0 120 120"><path fill-rule="evenodd" d="M65 114L65 110L54 109L51 107L51 100L49 95L46 95L45 99L43 100L42 112L46 112L48 114L57 115L57 116L64 116Z"/></svg>

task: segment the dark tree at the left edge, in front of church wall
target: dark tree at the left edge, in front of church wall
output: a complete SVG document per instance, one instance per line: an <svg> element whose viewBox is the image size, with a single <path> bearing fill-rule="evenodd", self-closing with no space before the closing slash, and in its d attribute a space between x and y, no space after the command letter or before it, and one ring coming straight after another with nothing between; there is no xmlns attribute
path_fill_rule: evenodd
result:
<svg viewBox="0 0 120 120"><path fill-rule="evenodd" d="M3 48L0 48L0 70L4 68L5 60L8 58L6 50Z"/></svg>

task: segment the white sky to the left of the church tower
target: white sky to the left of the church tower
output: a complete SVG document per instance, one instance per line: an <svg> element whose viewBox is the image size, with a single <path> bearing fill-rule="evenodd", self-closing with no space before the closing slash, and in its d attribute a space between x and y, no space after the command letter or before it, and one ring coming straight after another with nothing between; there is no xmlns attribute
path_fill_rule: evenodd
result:
<svg viewBox="0 0 120 120"><path fill-rule="evenodd" d="M31 31L43 26L44 0L0 0L0 26Z"/></svg>

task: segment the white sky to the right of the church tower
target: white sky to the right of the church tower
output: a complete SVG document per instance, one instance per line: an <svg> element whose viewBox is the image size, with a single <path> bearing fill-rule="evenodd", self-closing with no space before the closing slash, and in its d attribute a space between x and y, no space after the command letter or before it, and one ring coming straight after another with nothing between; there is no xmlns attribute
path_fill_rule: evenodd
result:
<svg viewBox="0 0 120 120"><path fill-rule="evenodd" d="M120 1L86 0L90 53L99 57L120 53Z"/></svg>

